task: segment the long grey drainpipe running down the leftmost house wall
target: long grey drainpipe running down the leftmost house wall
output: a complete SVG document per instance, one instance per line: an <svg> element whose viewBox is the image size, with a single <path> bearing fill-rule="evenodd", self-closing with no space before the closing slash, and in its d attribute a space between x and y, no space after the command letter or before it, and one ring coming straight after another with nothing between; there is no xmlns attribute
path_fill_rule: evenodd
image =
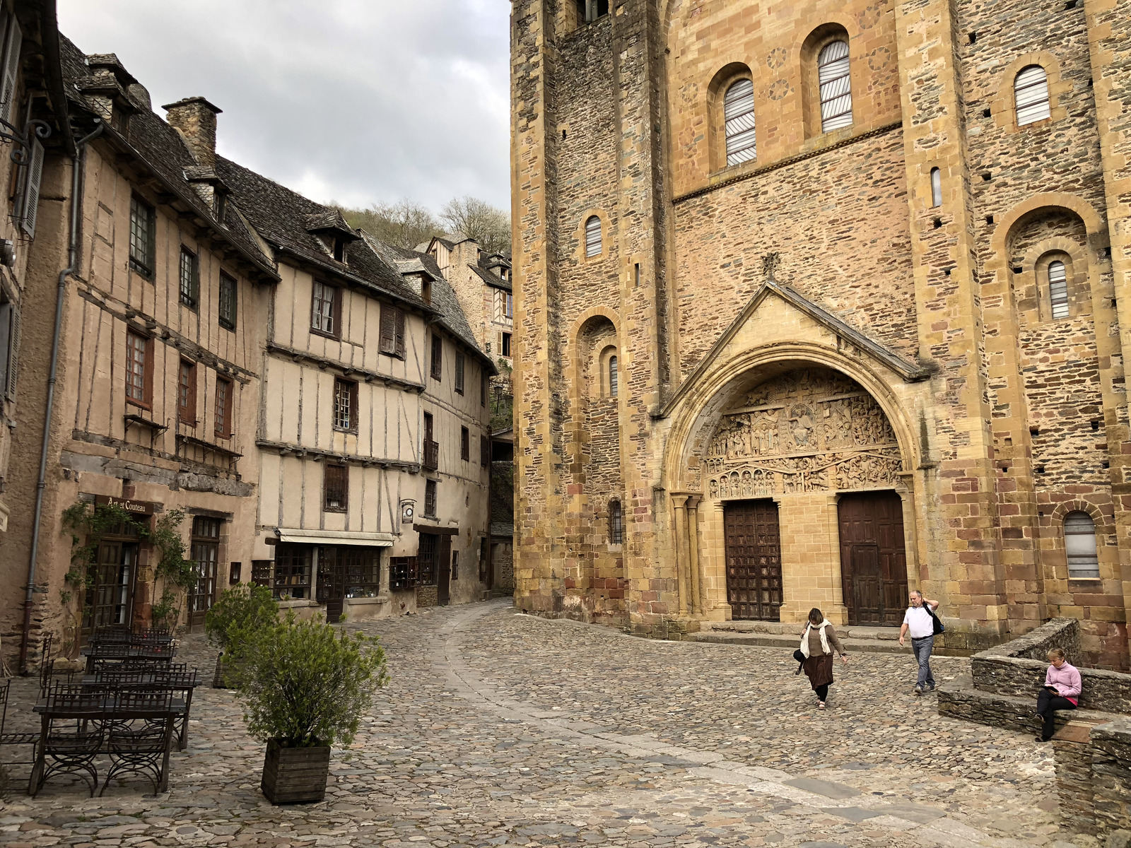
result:
<svg viewBox="0 0 1131 848"><path fill-rule="evenodd" d="M67 292L67 277L78 267L78 219L83 208L79 189L83 184L83 156L87 142L96 138L105 126L97 118L98 124L75 145L71 165L71 214L70 234L67 244L67 267L59 271L59 285L55 289L55 330L51 338L51 374L48 377L48 404L43 416L43 444L40 449L40 478L35 483L35 519L32 523L32 553L27 560L27 594L24 598L24 638L19 642L19 673L27 674L27 648L32 635L32 606L35 590L35 561L40 555L40 527L43 522L43 493L48 487L48 442L51 436L51 414L55 403L55 379L59 371L59 336L63 326L63 295Z"/></svg>

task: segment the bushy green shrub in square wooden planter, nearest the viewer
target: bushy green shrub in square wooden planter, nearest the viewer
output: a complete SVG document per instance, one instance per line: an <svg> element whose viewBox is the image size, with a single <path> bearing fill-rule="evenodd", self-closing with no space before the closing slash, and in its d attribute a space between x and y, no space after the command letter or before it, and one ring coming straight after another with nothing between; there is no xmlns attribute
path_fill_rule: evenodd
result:
<svg viewBox="0 0 1131 848"><path fill-rule="evenodd" d="M235 670L243 720L267 743L264 795L273 804L322 801L330 746L353 742L373 693L388 683L385 651L375 638L294 613L233 649L225 666Z"/></svg>

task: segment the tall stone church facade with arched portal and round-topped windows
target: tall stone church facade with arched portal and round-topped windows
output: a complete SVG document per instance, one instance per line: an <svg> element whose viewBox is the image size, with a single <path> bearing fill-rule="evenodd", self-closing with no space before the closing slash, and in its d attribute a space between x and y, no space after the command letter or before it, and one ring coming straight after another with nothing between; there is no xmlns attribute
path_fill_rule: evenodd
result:
<svg viewBox="0 0 1131 848"><path fill-rule="evenodd" d="M516 604L1125 668L1129 8L515 0Z"/></svg>

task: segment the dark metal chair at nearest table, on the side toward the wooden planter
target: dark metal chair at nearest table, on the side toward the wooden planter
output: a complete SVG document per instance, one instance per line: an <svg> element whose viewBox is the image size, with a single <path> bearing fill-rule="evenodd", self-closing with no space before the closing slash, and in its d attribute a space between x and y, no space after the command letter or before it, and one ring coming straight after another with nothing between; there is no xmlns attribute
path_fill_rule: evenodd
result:
<svg viewBox="0 0 1131 848"><path fill-rule="evenodd" d="M173 691L120 690L106 721L106 751L110 771L101 796L110 781L122 775L137 773L149 778L155 793L167 784L169 749L173 735Z"/></svg>

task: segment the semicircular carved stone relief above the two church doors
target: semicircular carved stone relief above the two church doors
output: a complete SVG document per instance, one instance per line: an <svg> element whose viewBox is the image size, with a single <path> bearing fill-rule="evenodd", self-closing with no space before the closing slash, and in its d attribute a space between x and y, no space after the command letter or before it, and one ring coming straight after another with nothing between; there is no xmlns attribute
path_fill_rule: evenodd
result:
<svg viewBox="0 0 1131 848"><path fill-rule="evenodd" d="M903 470L879 404L844 374L800 369L723 414L703 462L713 499L892 485Z"/></svg>

